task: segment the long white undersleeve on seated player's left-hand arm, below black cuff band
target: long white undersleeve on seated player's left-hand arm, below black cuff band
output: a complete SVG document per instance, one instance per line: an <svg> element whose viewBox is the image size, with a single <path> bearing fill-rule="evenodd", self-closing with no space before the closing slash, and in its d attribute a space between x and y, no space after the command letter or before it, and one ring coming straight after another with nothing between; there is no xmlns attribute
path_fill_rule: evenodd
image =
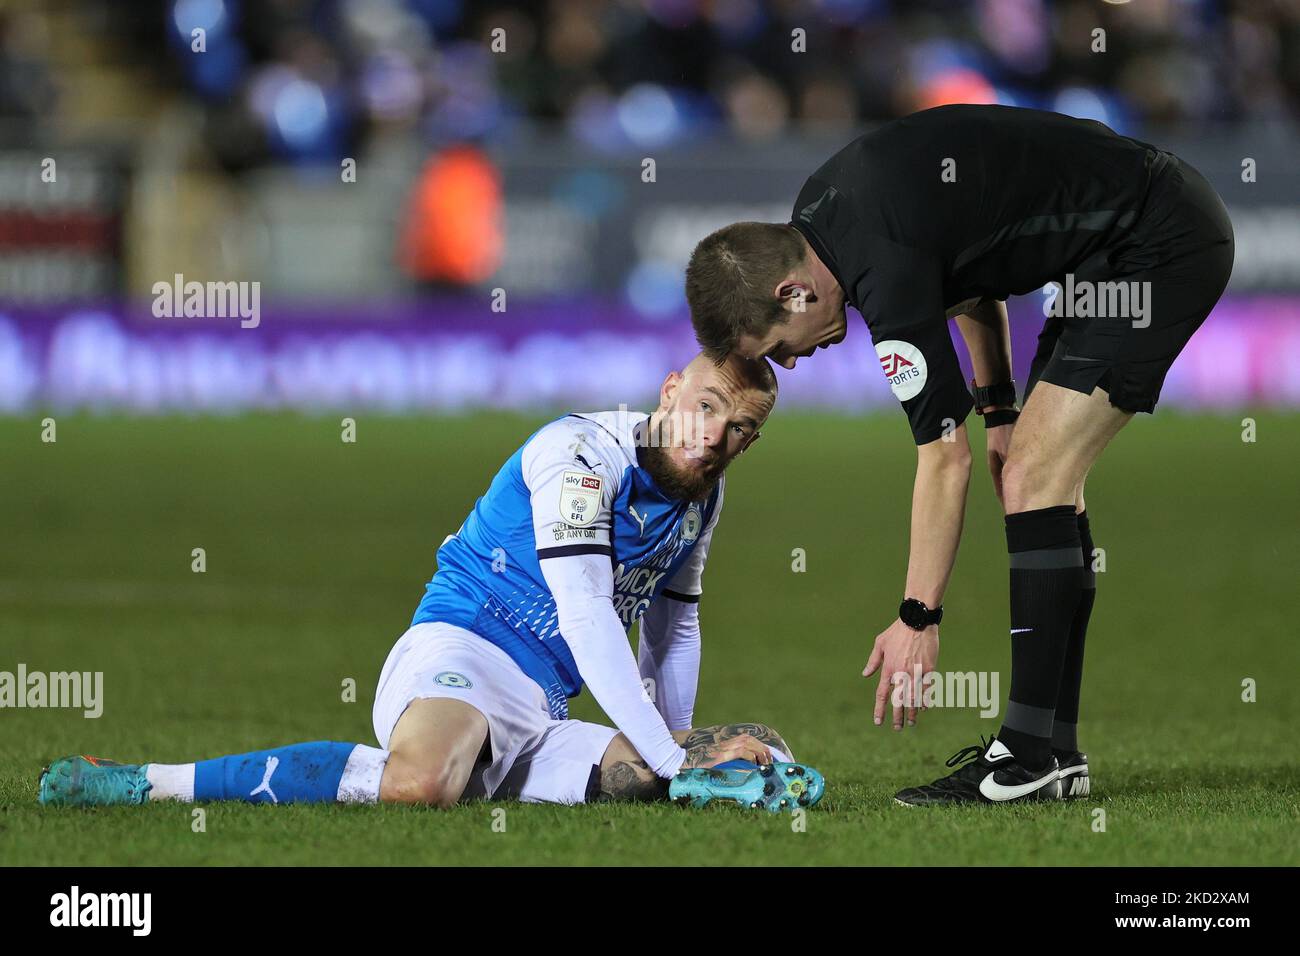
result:
<svg viewBox="0 0 1300 956"><path fill-rule="evenodd" d="M546 587L578 672L610 719L659 777L681 769L686 752L641 685L627 631L614 610L614 567L603 554L543 558Z"/></svg>

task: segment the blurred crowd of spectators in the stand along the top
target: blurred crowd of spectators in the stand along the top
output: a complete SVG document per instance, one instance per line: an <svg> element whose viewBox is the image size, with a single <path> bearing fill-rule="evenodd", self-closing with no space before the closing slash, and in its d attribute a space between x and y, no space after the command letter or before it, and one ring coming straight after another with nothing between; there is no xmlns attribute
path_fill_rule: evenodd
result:
<svg viewBox="0 0 1300 956"><path fill-rule="evenodd" d="M110 9L105 42L202 104L231 169L332 161L394 127L491 140L534 118L616 151L952 101L1128 130L1300 114L1300 0L60 1ZM27 34L0 21L4 117L57 109Z"/></svg>

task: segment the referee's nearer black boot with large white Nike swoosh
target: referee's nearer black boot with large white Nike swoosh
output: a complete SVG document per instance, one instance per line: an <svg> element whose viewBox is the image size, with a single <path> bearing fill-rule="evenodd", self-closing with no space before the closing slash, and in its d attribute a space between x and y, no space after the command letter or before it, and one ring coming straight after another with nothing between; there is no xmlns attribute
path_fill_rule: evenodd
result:
<svg viewBox="0 0 1300 956"><path fill-rule="evenodd" d="M1061 799L1056 757L1041 770L1030 770L997 737L963 747L948 758L948 766L957 770L924 787L900 790L894 800L905 806L937 806Z"/></svg>

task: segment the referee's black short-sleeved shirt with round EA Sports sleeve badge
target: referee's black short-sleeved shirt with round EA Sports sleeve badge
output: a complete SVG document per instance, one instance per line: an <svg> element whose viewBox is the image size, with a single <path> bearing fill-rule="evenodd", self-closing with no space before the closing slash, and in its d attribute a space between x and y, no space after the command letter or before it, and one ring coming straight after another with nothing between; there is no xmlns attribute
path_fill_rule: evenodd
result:
<svg viewBox="0 0 1300 956"><path fill-rule="evenodd" d="M940 107L840 150L800 190L792 222L866 319L923 445L971 410L948 311L1074 272L1136 221L1166 163L1091 120Z"/></svg>

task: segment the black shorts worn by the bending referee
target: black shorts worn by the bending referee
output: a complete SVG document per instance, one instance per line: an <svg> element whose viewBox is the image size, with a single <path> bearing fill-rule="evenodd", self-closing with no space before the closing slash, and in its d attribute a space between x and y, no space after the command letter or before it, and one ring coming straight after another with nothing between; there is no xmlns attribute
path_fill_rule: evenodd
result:
<svg viewBox="0 0 1300 956"><path fill-rule="evenodd" d="M1026 398L1041 378L1084 394L1100 385L1118 408L1153 411L1170 365L1223 293L1234 248L1223 200L1191 165L1162 156L1134 226L1074 273L1075 286L1149 282L1145 315L1049 316Z"/></svg>

